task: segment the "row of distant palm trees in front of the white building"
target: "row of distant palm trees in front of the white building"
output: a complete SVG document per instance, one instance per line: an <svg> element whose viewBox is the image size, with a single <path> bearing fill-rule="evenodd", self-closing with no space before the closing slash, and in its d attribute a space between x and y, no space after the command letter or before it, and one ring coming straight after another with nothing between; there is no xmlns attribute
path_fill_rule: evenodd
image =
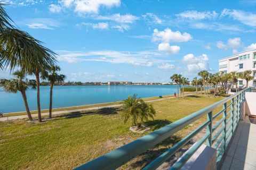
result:
<svg viewBox="0 0 256 170"><path fill-rule="evenodd" d="M214 97L216 96L217 89L219 88L220 94L227 94L230 86L230 84L234 84L236 87L236 92L238 92L238 79L246 80L246 88L248 87L248 82L253 80L253 76L251 75L251 70L246 70L244 72L217 72L217 73L210 73L206 70L202 70L198 72L198 76L201 78L195 77L191 83L193 86L196 86L196 94L197 94L197 87L201 87L201 94L202 89L204 88L204 95L208 97L209 89L214 89ZM178 98L181 97L181 91L182 91L182 97L184 98L184 86L189 84L188 78L182 77L181 74L173 74L170 79L177 84L177 95ZM182 89L181 90L181 85Z"/></svg>

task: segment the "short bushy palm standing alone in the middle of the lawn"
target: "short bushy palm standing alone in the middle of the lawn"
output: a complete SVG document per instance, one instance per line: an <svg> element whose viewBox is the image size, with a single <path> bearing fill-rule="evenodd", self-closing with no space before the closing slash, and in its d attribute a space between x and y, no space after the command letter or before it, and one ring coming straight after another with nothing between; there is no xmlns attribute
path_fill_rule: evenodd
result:
<svg viewBox="0 0 256 170"><path fill-rule="evenodd" d="M121 118L124 123L131 119L132 124L136 125L138 129L141 123L147 121L149 117L154 120L156 111L153 106L145 103L142 99L138 99L135 94L123 100L122 104Z"/></svg>

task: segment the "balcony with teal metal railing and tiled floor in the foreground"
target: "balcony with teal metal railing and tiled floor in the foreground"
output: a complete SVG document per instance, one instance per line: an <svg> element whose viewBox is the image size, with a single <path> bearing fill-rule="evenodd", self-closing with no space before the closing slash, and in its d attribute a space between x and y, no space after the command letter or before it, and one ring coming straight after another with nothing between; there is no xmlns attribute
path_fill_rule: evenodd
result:
<svg viewBox="0 0 256 170"><path fill-rule="evenodd" d="M116 169L203 117L206 117L204 123L143 169L159 169L163 163L170 162L175 163L168 169L205 169L207 158L211 159L211 169L256 169L256 125L246 116L256 114L256 93L251 91L251 88L244 89L76 169ZM177 161L172 160L177 151L198 135L194 145ZM211 150L212 157L207 153L202 156L205 149Z"/></svg>

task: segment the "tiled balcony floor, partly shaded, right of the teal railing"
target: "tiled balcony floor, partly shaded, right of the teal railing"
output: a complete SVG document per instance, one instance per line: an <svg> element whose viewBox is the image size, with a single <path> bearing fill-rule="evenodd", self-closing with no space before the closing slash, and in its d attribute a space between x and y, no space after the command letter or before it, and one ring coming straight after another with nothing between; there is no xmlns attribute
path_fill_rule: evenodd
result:
<svg viewBox="0 0 256 170"><path fill-rule="evenodd" d="M256 124L248 116L241 121L221 170L256 169Z"/></svg>

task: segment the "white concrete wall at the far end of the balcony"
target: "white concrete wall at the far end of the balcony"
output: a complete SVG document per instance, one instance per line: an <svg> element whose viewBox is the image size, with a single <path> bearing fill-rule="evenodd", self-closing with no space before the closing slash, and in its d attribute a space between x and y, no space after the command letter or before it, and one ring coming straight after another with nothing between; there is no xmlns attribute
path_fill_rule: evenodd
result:
<svg viewBox="0 0 256 170"><path fill-rule="evenodd" d="M245 114L256 115L256 92L245 92Z"/></svg>

